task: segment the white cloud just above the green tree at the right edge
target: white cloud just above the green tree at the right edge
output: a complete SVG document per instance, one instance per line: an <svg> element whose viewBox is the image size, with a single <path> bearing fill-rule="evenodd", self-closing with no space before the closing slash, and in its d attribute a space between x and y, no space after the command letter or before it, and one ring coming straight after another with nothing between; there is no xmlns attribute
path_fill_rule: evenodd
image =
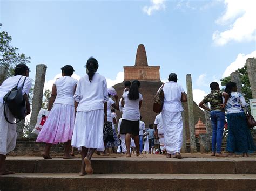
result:
<svg viewBox="0 0 256 191"><path fill-rule="evenodd" d="M230 76L232 72L235 72L235 70L242 68L245 66L246 60L248 58L256 57L256 51L253 51L251 54L238 54L237 59L235 59L234 62L232 62L223 73L223 77Z"/></svg>

